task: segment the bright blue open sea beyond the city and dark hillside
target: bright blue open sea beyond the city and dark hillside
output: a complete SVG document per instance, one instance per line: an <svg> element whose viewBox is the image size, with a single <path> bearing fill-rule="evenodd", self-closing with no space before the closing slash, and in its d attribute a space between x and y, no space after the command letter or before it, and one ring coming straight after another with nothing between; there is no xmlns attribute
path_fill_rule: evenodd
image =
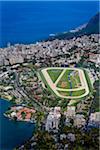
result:
<svg viewBox="0 0 100 150"><path fill-rule="evenodd" d="M0 2L0 47L8 42L33 43L68 31L95 15L99 2Z"/></svg>

